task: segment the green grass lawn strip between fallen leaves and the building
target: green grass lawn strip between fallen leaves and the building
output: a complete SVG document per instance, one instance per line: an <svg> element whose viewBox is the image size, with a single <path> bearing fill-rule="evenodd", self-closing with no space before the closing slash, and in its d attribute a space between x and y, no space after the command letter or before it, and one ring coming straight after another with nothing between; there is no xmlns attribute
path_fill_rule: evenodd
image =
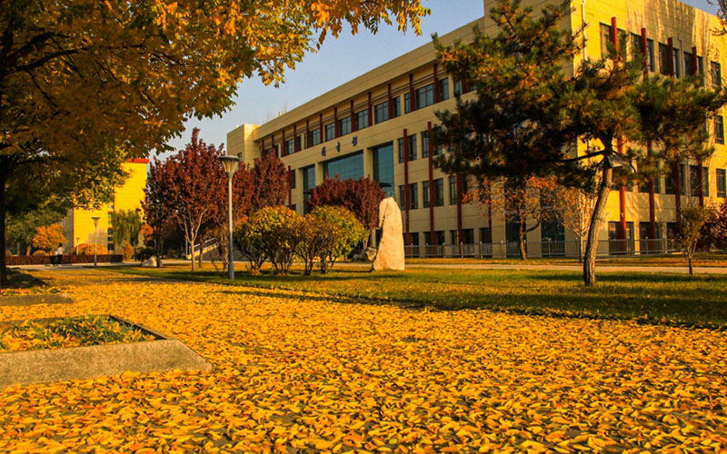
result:
<svg viewBox="0 0 727 454"><path fill-rule="evenodd" d="M109 270L112 271L112 270ZM230 284L211 267L126 268L115 272ZM727 327L727 279L719 275L612 272L585 287L573 271L410 269L372 273L337 266L304 276L237 273L234 285L304 291L326 297L441 310L490 309L567 317L626 319L675 325ZM288 294L288 296L290 296Z"/></svg>

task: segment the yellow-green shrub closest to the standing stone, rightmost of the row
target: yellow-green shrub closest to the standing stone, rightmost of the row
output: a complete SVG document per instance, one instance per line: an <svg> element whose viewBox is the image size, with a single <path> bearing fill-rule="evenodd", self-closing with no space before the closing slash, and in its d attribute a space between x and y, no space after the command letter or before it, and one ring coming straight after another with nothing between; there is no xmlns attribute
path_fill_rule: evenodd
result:
<svg viewBox="0 0 727 454"><path fill-rule="evenodd" d="M323 205L316 207L310 214L335 226L335 230L332 231L335 234L334 241L328 242L327 247L319 255L321 271L325 273L334 267L334 262L339 257L345 257L354 250L356 244L364 239L366 231L354 213L342 206Z"/></svg>

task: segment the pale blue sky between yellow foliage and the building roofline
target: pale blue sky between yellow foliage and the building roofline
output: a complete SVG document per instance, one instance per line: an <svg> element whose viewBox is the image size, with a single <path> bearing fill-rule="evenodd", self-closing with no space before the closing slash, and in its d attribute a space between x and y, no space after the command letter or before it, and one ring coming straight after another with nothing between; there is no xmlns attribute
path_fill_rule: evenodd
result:
<svg viewBox="0 0 727 454"><path fill-rule="evenodd" d="M192 128L199 127L206 143L226 143L227 133L243 123L262 124L314 99L320 94L344 84L354 77L393 60L401 54L423 44L431 44L432 34L444 35L455 28L483 16L483 0L423 0L432 15L422 19L422 35L410 30L405 35L395 26L382 25L379 33L363 31L358 35L342 34L338 39L327 39L321 49L308 54L294 70L285 74L285 83L279 87L265 86L257 79L246 79L238 86L234 107L222 115L187 122L187 131L169 142L174 149L189 142ZM716 7L706 0L688 0L712 14Z"/></svg>

